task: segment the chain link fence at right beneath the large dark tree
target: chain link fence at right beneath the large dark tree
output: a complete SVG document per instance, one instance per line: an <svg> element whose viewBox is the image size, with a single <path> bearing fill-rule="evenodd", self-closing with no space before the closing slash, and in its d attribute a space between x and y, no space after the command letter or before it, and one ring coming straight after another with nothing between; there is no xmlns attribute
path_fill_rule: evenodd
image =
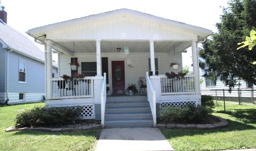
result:
<svg viewBox="0 0 256 151"><path fill-rule="evenodd" d="M231 113L241 117L256 119L256 90L254 89L214 89L202 90L202 95L211 95L217 112Z"/></svg>

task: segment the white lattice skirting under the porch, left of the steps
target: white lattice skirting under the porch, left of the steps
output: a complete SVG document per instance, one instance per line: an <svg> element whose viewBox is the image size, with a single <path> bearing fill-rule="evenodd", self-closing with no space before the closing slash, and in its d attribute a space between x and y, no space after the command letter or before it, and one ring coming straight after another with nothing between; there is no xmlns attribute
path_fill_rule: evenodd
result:
<svg viewBox="0 0 256 151"><path fill-rule="evenodd" d="M94 105L79 105L82 107L82 112L79 113L80 119L94 119ZM77 106L67 106L69 108L76 108Z"/></svg>

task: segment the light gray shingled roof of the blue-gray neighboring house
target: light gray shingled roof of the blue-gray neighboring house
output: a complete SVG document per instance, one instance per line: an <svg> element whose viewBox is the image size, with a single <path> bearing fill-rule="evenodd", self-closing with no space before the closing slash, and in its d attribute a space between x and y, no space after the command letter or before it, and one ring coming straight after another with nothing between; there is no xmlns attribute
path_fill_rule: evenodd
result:
<svg viewBox="0 0 256 151"><path fill-rule="evenodd" d="M7 48L44 62L44 52L28 37L7 24L0 22L0 41L1 40L7 45Z"/></svg>

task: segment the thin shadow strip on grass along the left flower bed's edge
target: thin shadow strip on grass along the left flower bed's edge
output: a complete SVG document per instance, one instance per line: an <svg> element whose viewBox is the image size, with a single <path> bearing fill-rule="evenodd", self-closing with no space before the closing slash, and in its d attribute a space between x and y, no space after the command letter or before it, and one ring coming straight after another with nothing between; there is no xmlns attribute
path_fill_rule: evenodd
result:
<svg viewBox="0 0 256 151"><path fill-rule="evenodd" d="M98 137L101 129L73 131L73 132L45 132L37 130L23 130L14 132L13 135L54 135L54 136L93 136Z"/></svg>

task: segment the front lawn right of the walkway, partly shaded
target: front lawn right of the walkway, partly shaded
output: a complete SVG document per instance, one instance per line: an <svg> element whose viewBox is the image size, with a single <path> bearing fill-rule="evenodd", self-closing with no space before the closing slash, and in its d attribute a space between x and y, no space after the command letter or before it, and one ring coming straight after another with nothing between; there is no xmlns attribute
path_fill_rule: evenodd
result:
<svg viewBox="0 0 256 151"><path fill-rule="evenodd" d="M256 120L214 113L229 122L223 129L165 129L163 134L174 150L224 150L256 148Z"/></svg>

